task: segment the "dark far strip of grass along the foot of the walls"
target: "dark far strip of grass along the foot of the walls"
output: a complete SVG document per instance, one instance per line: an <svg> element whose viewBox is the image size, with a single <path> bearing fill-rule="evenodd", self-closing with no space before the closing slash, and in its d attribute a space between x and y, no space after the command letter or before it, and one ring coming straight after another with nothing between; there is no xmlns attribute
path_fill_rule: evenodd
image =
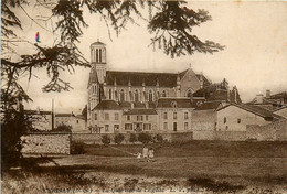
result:
<svg viewBox="0 0 287 194"><path fill-rule="evenodd" d="M142 152L142 144L113 146L131 153ZM174 143L153 143L156 157L227 157L227 158L287 158L287 142L227 142L190 141ZM128 157L125 152L106 146L85 146L85 154L103 157Z"/></svg>

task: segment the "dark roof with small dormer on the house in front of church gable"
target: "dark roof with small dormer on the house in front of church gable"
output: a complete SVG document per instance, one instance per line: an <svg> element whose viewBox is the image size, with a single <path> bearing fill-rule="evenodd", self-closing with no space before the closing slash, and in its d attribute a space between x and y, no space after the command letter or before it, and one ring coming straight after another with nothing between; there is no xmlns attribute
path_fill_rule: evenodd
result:
<svg viewBox="0 0 287 194"><path fill-rule="evenodd" d="M157 108L174 108L174 106L177 108L195 108L198 107L199 101L203 101L203 99L191 100L190 98L160 98Z"/></svg>

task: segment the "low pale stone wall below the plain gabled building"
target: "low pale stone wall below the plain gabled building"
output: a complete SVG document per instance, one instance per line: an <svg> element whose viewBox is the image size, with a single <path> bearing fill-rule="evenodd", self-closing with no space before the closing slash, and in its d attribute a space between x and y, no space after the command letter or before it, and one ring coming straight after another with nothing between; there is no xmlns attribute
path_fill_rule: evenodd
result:
<svg viewBox="0 0 287 194"><path fill-rule="evenodd" d="M193 131L194 140L245 141L246 131Z"/></svg>

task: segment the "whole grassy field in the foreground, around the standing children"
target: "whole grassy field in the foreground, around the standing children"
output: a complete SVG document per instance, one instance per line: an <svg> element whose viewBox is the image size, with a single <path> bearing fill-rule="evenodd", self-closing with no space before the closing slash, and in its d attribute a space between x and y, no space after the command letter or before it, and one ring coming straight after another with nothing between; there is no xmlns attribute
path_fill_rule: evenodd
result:
<svg viewBox="0 0 287 194"><path fill-rule="evenodd" d="M287 192L287 142L191 141L150 146L155 149L153 162L139 161L130 154L141 151L141 144L86 144L85 154L36 159L40 166L22 174L24 180L19 179L20 172L4 173L8 180L18 179L12 185L3 182L3 188L15 193L26 187L39 193L71 186L93 191L173 186L219 193Z"/></svg>

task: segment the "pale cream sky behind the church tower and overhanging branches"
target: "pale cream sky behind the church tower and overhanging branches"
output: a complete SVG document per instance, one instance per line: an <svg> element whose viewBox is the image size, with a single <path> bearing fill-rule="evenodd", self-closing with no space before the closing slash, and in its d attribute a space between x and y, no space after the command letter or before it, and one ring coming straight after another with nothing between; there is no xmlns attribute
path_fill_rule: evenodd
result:
<svg viewBox="0 0 287 194"><path fill-rule="evenodd" d="M286 2L189 2L193 9L205 9L212 21L194 29L201 40L211 40L225 45L224 51L211 54L196 53L191 56L170 58L161 50L149 47L151 35L147 23L136 18L140 24L128 25L119 36L111 32L108 36L106 24L97 15L85 12L88 28L79 39L78 47L89 61L89 45L99 41L107 44L107 68L117 71L181 72L189 67L203 74L213 83L227 78L236 85L244 101L256 94L287 90L287 3ZM38 15L47 12L43 9L28 9ZM31 22L21 11L24 36L34 42L40 32L41 45L51 45L56 36ZM47 12L49 14L49 12ZM43 23L51 28L50 23ZM113 31L113 29L111 29ZM33 48L31 48L32 51ZM21 53L29 52L28 45L19 46ZM30 51L30 52L31 52ZM55 108L62 112L79 112L87 103L87 79L89 69L76 68L73 75L65 74L65 80L74 87L71 91L45 94L41 87L47 83L44 71L39 71L23 87L33 103L26 108L51 109L52 98Z"/></svg>

